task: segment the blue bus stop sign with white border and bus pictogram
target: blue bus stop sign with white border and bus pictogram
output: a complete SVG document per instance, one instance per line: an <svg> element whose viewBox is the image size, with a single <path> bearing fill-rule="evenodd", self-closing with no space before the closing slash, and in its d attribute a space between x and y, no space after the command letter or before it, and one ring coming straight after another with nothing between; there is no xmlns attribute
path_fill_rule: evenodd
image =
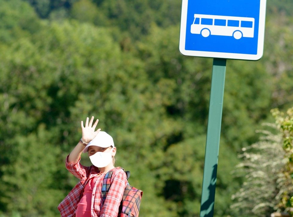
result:
<svg viewBox="0 0 293 217"><path fill-rule="evenodd" d="M266 0L182 0L181 54L260 59L265 5Z"/></svg>

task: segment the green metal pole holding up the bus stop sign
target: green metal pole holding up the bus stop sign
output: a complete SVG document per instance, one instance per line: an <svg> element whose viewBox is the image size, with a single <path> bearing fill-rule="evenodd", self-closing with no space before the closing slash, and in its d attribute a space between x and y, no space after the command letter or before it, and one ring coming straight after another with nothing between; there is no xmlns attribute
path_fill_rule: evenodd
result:
<svg viewBox="0 0 293 217"><path fill-rule="evenodd" d="M226 59L214 58L200 217L212 217L214 213L225 72Z"/></svg>

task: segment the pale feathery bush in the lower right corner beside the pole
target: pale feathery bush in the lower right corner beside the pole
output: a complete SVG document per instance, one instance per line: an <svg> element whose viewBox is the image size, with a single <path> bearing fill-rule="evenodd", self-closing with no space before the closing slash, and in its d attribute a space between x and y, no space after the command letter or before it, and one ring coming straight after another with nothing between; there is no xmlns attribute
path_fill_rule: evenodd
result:
<svg viewBox="0 0 293 217"><path fill-rule="evenodd" d="M292 213L293 196L293 107L287 116L278 109L271 113L276 124L260 131L257 143L242 148L243 159L236 173L245 176L241 189L232 196L231 209L240 216L269 216L273 210Z"/></svg>

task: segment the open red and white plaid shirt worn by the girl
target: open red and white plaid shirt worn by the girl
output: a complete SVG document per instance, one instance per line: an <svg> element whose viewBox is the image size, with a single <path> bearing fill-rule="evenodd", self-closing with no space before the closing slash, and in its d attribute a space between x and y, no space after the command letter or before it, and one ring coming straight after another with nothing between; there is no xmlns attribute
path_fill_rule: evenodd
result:
<svg viewBox="0 0 293 217"><path fill-rule="evenodd" d="M69 156L69 155L68 155ZM80 164L80 159L77 163L68 163L66 158L66 169L71 172L80 181L68 193L68 195L59 204L58 210L61 216L75 216L77 204L80 201L83 188L89 179L97 176L97 181L94 184L93 194L91 197L91 216L93 217L113 217L118 215L118 208L123 197L124 189L127 185L126 174L120 167L113 169L111 177L111 187L107 193L106 200L102 201L102 185L106 173L100 173L99 169L94 166L83 166Z"/></svg>

